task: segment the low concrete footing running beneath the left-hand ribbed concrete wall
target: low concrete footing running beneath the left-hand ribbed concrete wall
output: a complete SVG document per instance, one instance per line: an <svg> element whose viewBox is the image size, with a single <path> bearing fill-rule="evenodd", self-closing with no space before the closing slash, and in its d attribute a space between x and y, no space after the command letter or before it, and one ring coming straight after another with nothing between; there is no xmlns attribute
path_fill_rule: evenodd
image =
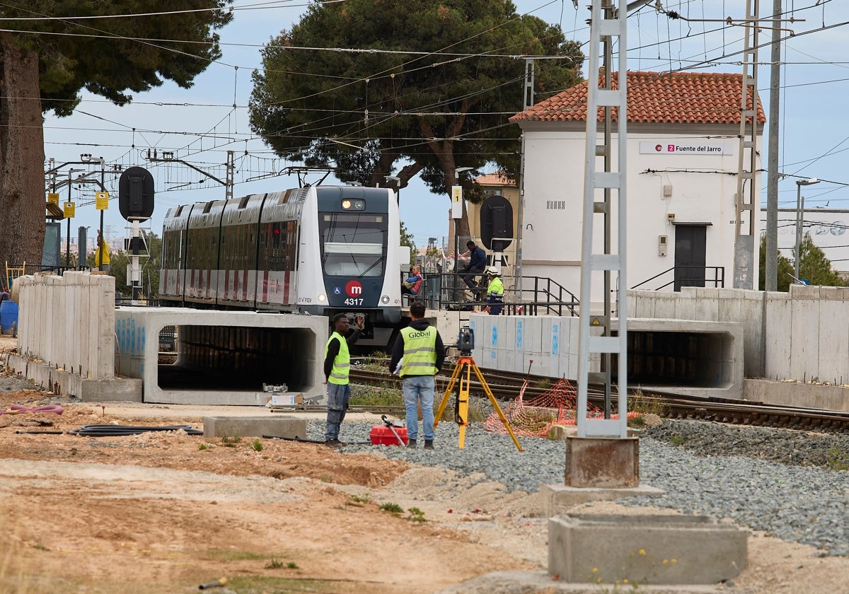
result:
<svg viewBox="0 0 849 594"><path fill-rule="evenodd" d="M83 402L142 401L142 380L137 378L84 378L41 361L11 354L8 367L55 394L74 396Z"/></svg>

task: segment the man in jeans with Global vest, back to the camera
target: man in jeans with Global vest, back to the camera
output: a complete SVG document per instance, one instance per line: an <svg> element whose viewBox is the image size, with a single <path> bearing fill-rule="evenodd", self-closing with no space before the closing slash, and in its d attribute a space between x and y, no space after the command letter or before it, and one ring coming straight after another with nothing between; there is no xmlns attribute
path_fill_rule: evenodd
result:
<svg viewBox="0 0 849 594"><path fill-rule="evenodd" d="M389 373L404 378L404 407L407 411L407 447L415 447L419 437L419 412L422 407L422 432L424 449L433 449L433 376L439 373L445 361L445 345L436 328L424 319L424 303L413 301L410 304L410 318L413 320L407 328L398 334L392 347L389 361ZM399 365L400 370L399 370Z"/></svg>

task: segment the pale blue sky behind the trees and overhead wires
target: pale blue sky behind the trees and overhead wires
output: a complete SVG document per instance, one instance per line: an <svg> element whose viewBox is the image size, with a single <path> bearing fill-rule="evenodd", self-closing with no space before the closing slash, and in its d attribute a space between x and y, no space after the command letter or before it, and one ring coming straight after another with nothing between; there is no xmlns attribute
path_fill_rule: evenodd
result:
<svg viewBox="0 0 849 594"><path fill-rule="evenodd" d="M533 14L549 23L561 25L565 36L585 43L589 29L591 0L579 0L579 8L569 0L516 0L520 14ZM754 2L753 2L754 3ZM663 12L655 4L645 6L628 17L627 59L629 70L705 71L741 73L744 31L737 25L745 19L745 0L664 0ZM821 182L803 187L805 206L849 210L849 116L843 110L849 97L849 54L846 32L849 29L849 3L845 0L782 0L786 18L781 43L781 92L779 116L779 208L796 208L797 179L816 177ZM174 206L224 198L223 186L206 178L197 169L224 179L223 164L227 151L233 150L237 171L233 195L265 193L296 188L296 176L268 177L269 171L282 171L300 165L278 159L251 131L247 104L250 99L252 70L261 66L260 49L273 36L300 20L306 3L255 3L236 0L235 18L218 31L222 40L222 58L197 76L194 87L182 89L167 82L150 92L138 93L132 104L117 107L104 98L87 93L74 115L45 120L45 156L50 164L62 165L81 160L81 154L103 157L107 168L120 164L143 166L154 173L155 211L150 228L161 234L166 211ZM760 0L761 18L772 14L773 3ZM677 14L683 18L672 18ZM732 18L735 25L724 21ZM769 26L769 23L764 23ZM761 66L758 91L768 114L772 31L762 29L759 42ZM766 45L763 45L766 44ZM411 48L413 50L417 48ZM587 45L583 46L585 53ZM616 48L619 51L619 48ZM587 76L588 62L583 75ZM235 105L235 107L233 107ZM518 107L519 111L521 106ZM135 128L135 131L133 131ZM517 126L517 136L519 129ZM767 167L766 137L762 166ZM170 151L188 165L161 164L146 160L154 151ZM458 163L458 166L462 164ZM65 165L59 179L67 179ZM82 168L85 168L84 166ZM481 170L481 173L490 172ZM76 172L73 177L81 175ZM95 177L99 177L95 176ZM253 178L253 179L252 179ZM113 242L127 237L127 222L118 211L117 177L107 177L107 189L113 199L104 212L107 237ZM205 182L200 182L205 179ZM317 182L311 174L306 182ZM332 182L331 177L327 182ZM111 183L111 187L110 187ZM762 177L762 205L766 205L767 176ZM99 213L94 209L93 185L74 186L70 199L76 202L76 217L71 220L71 236L76 228L98 227ZM60 199L68 199L63 188ZM419 246L428 238L448 234L450 199L430 193L413 178L400 196L401 215L408 231ZM845 217L849 221L849 216ZM65 236L66 221L62 222ZM846 241L849 244L849 240ZM826 253L828 256L828 252Z"/></svg>

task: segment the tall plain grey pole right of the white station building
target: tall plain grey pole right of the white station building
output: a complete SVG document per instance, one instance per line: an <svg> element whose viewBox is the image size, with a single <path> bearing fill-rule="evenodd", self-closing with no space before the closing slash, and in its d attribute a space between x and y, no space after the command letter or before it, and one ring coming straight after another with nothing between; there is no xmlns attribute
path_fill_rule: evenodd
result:
<svg viewBox="0 0 849 594"><path fill-rule="evenodd" d="M769 69L769 132L767 139L767 291L778 290L779 275L779 101L781 97L781 0L773 0L773 52ZM796 274L796 278L799 275Z"/></svg>

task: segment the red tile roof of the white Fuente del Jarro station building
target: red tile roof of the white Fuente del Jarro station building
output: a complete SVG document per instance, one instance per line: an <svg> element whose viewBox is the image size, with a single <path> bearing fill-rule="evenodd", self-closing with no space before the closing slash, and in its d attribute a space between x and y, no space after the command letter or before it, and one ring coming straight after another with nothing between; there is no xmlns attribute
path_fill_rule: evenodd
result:
<svg viewBox="0 0 849 594"><path fill-rule="evenodd" d="M600 76L599 76L600 77ZM613 87L618 88L616 72ZM742 97L741 74L708 72L628 72L628 121L675 124L739 124ZM510 121L586 121L587 87L582 82L550 97ZM751 105L751 97L748 98ZM613 120L618 109L612 109ZM604 109L599 109L599 121ZM767 120L760 97L757 121Z"/></svg>

